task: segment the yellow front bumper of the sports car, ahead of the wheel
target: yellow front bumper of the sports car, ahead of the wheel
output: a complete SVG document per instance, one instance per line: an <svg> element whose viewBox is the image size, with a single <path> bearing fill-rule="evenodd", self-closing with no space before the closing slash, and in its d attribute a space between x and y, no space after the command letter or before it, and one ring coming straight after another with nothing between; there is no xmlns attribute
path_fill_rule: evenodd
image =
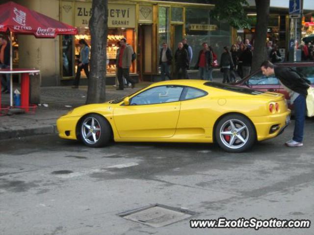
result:
<svg viewBox="0 0 314 235"><path fill-rule="evenodd" d="M76 126L80 117L60 117L57 119L59 137L68 140L77 140Z"/></svg>

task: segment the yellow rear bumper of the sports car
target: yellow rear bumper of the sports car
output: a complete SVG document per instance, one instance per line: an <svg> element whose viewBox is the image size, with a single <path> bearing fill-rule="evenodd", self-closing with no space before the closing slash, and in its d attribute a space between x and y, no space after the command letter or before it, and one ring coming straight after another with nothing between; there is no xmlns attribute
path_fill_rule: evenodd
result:
<svg viewBox="0 0 314 235"><path fill-rule="evenodd" d="M282 134L290 123L290 113L290 110L288 110L282 114L251 117L256 128L257 140L264 141ZM270 133L270 129L274 125L278 125L279 128L277 131Z"/></svg>

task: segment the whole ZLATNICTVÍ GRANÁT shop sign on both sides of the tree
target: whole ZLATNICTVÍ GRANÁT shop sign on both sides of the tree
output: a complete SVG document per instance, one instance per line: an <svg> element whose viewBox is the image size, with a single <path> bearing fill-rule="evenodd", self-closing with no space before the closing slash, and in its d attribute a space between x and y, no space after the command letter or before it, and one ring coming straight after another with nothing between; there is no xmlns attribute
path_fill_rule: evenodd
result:
<svg viewBox="0 0 314 235"><path fill-rule="evenodd" d="M67 7L69 8L69 7ZM66 12L66 9L64 9ZM75 26L88 27L92 16L91 2L75 2ZM135 28L135 5L108 4L108 27Z"/></svg>

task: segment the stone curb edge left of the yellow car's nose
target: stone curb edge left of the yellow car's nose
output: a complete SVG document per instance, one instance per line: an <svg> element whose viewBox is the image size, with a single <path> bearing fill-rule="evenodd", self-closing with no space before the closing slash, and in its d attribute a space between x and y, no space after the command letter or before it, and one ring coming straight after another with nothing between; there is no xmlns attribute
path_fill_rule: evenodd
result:
<svg viewBox="0 0 314 235"><path fill-rule="evenodd" d="M58 133L56 125L33 125L27 128L22 126L15 129L0 130L0 140L55 133Z"/></svg>

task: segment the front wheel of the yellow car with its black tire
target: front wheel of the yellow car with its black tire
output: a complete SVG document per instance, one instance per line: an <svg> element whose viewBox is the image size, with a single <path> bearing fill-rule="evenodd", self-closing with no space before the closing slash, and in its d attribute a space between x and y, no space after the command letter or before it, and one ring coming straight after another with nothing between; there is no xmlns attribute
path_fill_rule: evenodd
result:
<svg viewBox="0 0 314 235"><path fill-rule="evenodd" d="M92 126L93 120L94 126ZM90 128L87 128L88 126ZM104 117L98 114L84 116L80 121L78 131L81 141L86 146L94 148L105 146L112 136L110 124Z"/></svg>

